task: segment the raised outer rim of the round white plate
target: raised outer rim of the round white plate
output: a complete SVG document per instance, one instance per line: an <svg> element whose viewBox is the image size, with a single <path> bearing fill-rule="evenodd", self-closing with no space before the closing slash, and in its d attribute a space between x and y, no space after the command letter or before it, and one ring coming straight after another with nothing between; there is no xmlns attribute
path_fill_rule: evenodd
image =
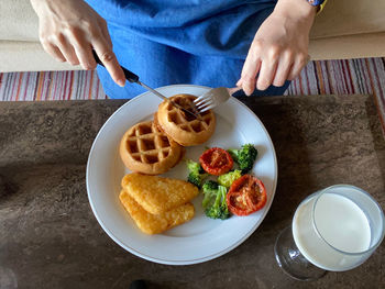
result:
<svg viewBox="0 0 385 289"><path fill-rule="evenodd" d="M202 89L211 89L210 87L207 87L207 86L198 86L198 85L169 85L169 86L163 86L163 87L158 87L156 89L167 89L167 88L176 88L176 87L190 87L190 88L202 88ZM148 256L146 254L143 254L142 252L139 252L138 249L135 248L132 248L130 246L128 246L127 244L124 244L122 241L120 241L116 235L113 235L113 233L107 227L107 225L103 223L103 221L100 219L100 216L98 215L97 213L97 209L95 208L95 204L92 203L91 201L91 197L90 197L90 188L89 188L89 171L90 171L90 159L91 159L91 155L92 155L92 152L95 149L95 146L96 146L96 143L97 143L97 140L99 138L101 132L105 130L107 123L110 121L111 118L113 118L113 115L116 113L118 113L120 110L122 110L125 105L129 105L129 103L133 102L133 101L138 101L140 100L141 98L143 98L144 96L146 95L151 95L150 91L144 91L143 93L130 99L129 101L127 101L124 104L122 104L120 108L118 108L103 123L103 125L99 129L98 131L98 134L96 135L94 142L92 142L92 145L91 145L91 148L89 151L89 154L88 154L88 159L87 159L87 167L86 167L86 188L87 188L87 197L88 197L88 201L89 201L89 204L91 207L91 210L92 210L92 213L95 215L95 218L97 219L99 225L103 229L103 231L107 233L107 235L109 237L111 237L118 245L120 245L122 248L124 248L125 251L128 251L129 253L140 257L140 258L143 258L143 259L146 259L146 260L150 260L150 262L154 262L154 263L157 263L157 264L164 264L164 265L175 265L175 266L183 266L183 265L194 265L194 264L200 264L200 263L204 263L204 262L208 262L208 260L211 260L211 259L215 259L215 258L218 258L220 256L223 256L224 254L231 252L232 249L237 248L239 245L241 245L244 241L246 241L254 232L255 230L261 225L261 223L264 221L264 219L266 218L272 204L273 204L273 201L274 201L274 197L275 197L275 192L276 192L276 187L277 187L277 180L278 180L278 164L277 164L277 157L276 157L276 152L275 152L275 147L274 147L274 143L272 141L272 137L270 136L265 125L263 124L263 122L260 120L260 118L246 105L244 104L242 101L238 100L237 98L232 97L232 99L238 103L240 104L241 107L243 107L244 109L246 109L251 115L261 124L262 126L262 130L265 132L265 135L268 140L268 142L271 143L272 145L272 153L273 153L273 158L274 158L274 173L275 173L275 178L273 180L273 188L272 188L272 198L271 198L271 202L268 203L268 207L265 209L264 213L261 215L260 220L253 225L253 227L246 233L243 235L242 238L240 238L238 242L233 243L232 245L230 245L229 247L220 251L220 252L217 252L215 254L210 254L210 255L207 255L205 257L199 257L199 258L195 258L195 259L186 259L186 260L172 260L172 259L162 259L162 258L157 258L157 257L152 257L152 256Z"/></svg>

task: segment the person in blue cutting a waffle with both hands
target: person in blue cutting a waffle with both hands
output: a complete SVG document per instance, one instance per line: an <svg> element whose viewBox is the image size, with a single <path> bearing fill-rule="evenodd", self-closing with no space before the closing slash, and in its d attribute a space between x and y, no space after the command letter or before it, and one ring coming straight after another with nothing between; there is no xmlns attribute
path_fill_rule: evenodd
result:
<svg viewBox="0 0 385 289"><path fill-rule="evenodd" d="M308 62L317 7L307 0L31 0L43 48L95 69L110 98L194 84L283 95ZM113 44L113 45L112 45Z"/></svg>

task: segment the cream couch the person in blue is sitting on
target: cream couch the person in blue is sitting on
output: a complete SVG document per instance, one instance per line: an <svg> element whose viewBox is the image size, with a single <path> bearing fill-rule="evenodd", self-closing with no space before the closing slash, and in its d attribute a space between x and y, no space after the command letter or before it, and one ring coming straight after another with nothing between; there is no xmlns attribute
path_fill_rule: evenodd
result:
<svg viewBox="0 0 385 289"><path fill-rule="evenodd" d="M311 31L311 59L385 56L385 1L329 0ZM0 0L0 71L81 69L58 63L38 43L29 0Z"/></svg>

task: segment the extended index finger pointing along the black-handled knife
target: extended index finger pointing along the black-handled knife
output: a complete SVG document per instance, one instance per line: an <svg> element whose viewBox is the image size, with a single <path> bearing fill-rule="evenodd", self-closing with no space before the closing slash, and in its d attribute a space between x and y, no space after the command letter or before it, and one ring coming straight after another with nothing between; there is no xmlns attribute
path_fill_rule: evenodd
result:
<svg viewBox="0 0 385 289"><path fill-rule="evenodd" d="M123 87L125 84L124 73L118 63L117 56L112 52L112 47L103 37L96 38L92 42L92 46L113 81Z"/></svg>

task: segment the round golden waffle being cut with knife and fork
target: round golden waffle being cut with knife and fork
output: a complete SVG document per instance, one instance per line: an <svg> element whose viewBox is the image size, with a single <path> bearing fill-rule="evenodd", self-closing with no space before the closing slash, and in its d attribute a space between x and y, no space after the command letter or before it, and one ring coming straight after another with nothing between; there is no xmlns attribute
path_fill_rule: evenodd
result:
<svg viewBox="0 0 385 289"><path fill-rule="evenodd" d="M191 95L176 95L170 98L183 108L191 110L190 103L196 99ZM209 110L200 114L201 120L163 101L157 110L157 123L167 135L183 146L202 144L210 138L216 129L216 115Z"/></svg>

